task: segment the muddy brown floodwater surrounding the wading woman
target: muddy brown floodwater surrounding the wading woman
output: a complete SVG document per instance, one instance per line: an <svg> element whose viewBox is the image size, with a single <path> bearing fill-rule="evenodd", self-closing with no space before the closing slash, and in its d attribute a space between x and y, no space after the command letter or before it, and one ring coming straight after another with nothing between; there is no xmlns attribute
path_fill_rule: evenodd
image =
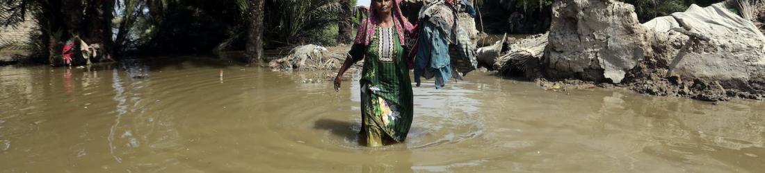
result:
<svg viewBox="0 0 765 173"><path fill-rule="evenodd" d="M405 143L368 148L358 84L336 92L325 75L193 58L0 67L0 172L765 170L762 101L545 91L474 72L414 88Z"/></svg>

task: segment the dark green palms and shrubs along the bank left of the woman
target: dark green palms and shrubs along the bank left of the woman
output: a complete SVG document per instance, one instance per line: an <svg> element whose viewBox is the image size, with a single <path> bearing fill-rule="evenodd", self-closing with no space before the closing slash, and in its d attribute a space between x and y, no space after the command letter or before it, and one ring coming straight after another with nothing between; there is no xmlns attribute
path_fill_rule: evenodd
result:
<svg viewBox="0 0 765 173"><path fill-rule="evenodd" d="M33 15L40 33L30 45L54 62L74 36L114 54L210 53L244 50L250 4L265 2L266 47L337 43L338 23L355 0L0 0L0 24ZM257 11L257 10L256 10ZM350 15L348 15L350 18ZM346 27L347 29L347 27ZM113 30L113 32L112 32ZM345 38L347 40L347 38Z"/></svg>

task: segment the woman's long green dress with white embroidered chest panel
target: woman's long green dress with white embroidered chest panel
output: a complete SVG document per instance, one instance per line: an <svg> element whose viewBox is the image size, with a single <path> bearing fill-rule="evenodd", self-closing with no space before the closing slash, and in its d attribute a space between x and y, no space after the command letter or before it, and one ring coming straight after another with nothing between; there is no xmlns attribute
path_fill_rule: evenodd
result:
<svg viewBox="0 0 765 173"><path fill-rule="evenodd" d="M382 139L402 142L412 126L412 82L396 27L377 27L364 53L361 86L362 133L367 146Z"/></svg>

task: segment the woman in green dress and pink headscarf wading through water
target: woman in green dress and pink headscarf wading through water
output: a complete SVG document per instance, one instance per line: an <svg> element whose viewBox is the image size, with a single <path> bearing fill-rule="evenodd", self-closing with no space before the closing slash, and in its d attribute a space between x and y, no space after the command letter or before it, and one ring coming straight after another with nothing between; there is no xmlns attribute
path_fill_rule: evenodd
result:
<svg viewBox="0 0 765 173"><path fill-rule="evenodd" d="M414 30L403 16L401 0L373 0L369 18L363 21L356 40L334 79L340 78L353 63L364 60L361 86L361 134L366 146L382 146L383 140L400 143L412 125L411 59L405 58L405 33Z"/></svg>

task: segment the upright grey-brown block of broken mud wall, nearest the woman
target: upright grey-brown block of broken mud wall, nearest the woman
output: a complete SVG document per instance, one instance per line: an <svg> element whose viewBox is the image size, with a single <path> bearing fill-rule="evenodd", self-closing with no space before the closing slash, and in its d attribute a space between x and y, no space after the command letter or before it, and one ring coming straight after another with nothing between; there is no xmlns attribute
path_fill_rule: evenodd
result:
<svg viewBox="0 0 765 173"><path fill-rule="evenodd" d="M546 75L621 82L650 54L648 36L632 5L610 0L559 0L552 4Z"/></svg>

